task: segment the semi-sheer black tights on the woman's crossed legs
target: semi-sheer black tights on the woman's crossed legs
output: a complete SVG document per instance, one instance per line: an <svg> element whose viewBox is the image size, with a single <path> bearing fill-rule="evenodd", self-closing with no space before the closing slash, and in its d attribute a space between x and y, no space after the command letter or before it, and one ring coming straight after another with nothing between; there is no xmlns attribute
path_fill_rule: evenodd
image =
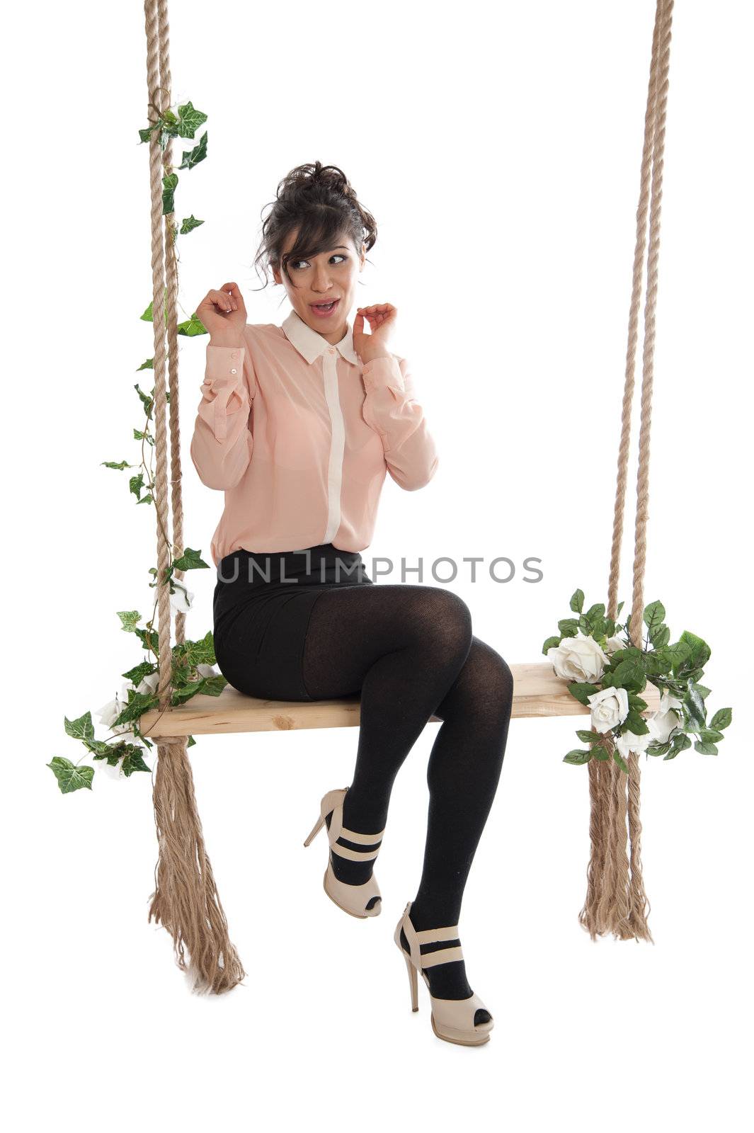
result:
<svg viewBox="0 0 754 1133"><path fill-rule="evenodd" d="M443 721L427 766L427 842L411 921L417 930L457 923L503 766L508 665L472 634L469 607L453 591L379 583L317 598L303 681L315 699L361 693L357 763L343 804L343 825L359 833L385 827L403 760L429 717ZM371 866L333 854L336 876L351 884L366 880ZM427 976L435 996L472 994L463 961L432 965Z"/></svg>

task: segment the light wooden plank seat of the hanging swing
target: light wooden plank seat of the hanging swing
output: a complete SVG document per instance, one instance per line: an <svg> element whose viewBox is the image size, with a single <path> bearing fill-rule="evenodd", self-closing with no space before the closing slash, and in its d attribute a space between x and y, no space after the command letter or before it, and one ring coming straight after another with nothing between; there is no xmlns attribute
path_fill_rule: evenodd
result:
<svg viewBox="0 0 754 1133"><path fill-rule="evenodd" d="M589 709L568 692L549 662L511 665L514 680L514 718L588 716ZM660 693L648 684L642 693L648 712L659 707ZM142 731L149 739L162 735L222 735L235 732L290 732L312 727L355 727L360 696L337 700L260 700L226 685L219 697L196 696L185 705L145 713ZM428 723L439 723L430 716Z"/></svg>

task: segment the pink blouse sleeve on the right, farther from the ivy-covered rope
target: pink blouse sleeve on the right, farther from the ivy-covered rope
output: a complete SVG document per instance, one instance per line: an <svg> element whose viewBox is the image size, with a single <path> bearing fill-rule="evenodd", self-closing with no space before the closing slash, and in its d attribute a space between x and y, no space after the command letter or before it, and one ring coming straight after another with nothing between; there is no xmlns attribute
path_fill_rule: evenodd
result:
<svg viewBox="0 0 754 1133"><path fill-rule="evenodd" d="M437 470L437 448L414 398L405 359L372 358L365 363L362 376L363 419L383 438L388 472L406 492L422 488Z"/></svg>

